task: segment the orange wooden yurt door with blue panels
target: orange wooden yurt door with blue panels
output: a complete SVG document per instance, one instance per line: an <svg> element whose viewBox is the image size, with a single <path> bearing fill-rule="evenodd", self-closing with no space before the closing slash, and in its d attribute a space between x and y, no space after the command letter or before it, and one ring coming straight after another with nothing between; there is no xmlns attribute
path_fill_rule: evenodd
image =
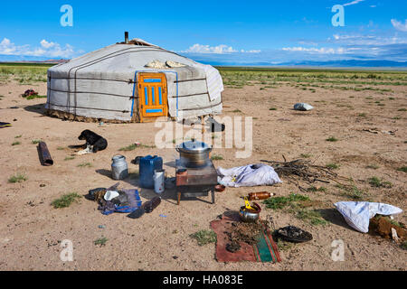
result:
<svg viewBox="0 0 407 289"><path fill-rule="evenodd" d="M166 75L164 73L140 73L138 75L140 120L168 115Z"/></svg>

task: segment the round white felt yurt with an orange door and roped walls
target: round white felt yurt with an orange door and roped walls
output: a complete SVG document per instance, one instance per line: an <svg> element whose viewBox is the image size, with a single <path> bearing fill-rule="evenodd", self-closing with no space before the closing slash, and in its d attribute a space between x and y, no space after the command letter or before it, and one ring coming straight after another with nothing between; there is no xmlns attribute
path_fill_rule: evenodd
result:
<svg viewBox="0 0 407 289"><path fill-rule="evenodd" d="M119 42L48 70L46 108L71 120L149 122L222 113L222 77L140 39Z"/></svg>

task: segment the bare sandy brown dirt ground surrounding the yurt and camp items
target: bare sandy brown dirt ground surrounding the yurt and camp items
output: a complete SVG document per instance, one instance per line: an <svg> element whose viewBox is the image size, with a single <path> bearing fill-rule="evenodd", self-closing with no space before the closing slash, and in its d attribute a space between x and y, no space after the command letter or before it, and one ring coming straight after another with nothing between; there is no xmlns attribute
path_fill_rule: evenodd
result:
<svg viewBox="0 0 407 289"><path fill-rule="evenodd" d="M19 85L9 82L0 86L0 121L12 127L0 129L0 270L406 270L407 250L388 239L362 234L346 225L333 203L351 200L334 184L322 184L327 191L308 192L318 200L326 226L313 226L294 214L268 210L263 206L261 216L272 215L277 228L298 226L312 233L314 239L281 250L279 264L231 263L215 260L214 244L197 245L190 234L210 229L210 222L227 210L239 210L240 196L251 191L270 191L278 196L299 192L291 183L273 187L227 188L216 193L216 203L210 197L201 200L182 200L176 205L175 191L168 190L161 205L141 219L129 219L126 214L104 216L97 203L82 198L69 208L54 209L52 200L63 194L87 194L90 189L109 187L111 157L127 157L130 177L121 182L123 188L137 186L137 166L130 160L137 155L157 154L164 158L166 173L175 175L171 162L174 149L139 147L128 152L119 148L140 142L155 144L159 128L154 124L104 124L62 121L43 116L44 99L27 100L20 97L25 89L46 94L46 84ZM389 88L388 86L386 88ZM260 160L282 161L282 154L293 160L301 154L316 164L337 163L336 170L352 177L362 200L382 201L407 209L407 89L390 87L394 93L377 91L344 91L317 89L315 93L290 86L260 89L259 85L243 89L225 89L224 116L253 118L253 153L250 158L235 158L236 149L215 149L223 160L215 166L230 168ZM366 99L367 98L367 99ZM380 101L384 106L378 106ZM310 112L292 109L296 102L308 102L315 107ZM18 108L9 108L17 106ZM270 110L271 107L277 110ZM238 111L240 110L240 112ZM90 129L105 136L109 147L98 154L75 156L68 160L70 144L81 144L78 135ZM364 129L377 129L374 134ZM392 131L386 134L382 131ZM21 135L21 136L20 136ZM16 138L17 136L17 138ZM20 137L18 137L20 136ZM335 136L336 142L327 142ZM33 140L48 144L54 160L51 167L41 166ZM20 142L21 144L14 144ZM90 163L85 166L80 164ZM24 173L25 182L8 182L17 173ZM374 188L367 181L377 176L391 182L392 188ZM143 200L154 192L141 190ZM260 202L261 204L261 202ZM407 223L405 212L395 217ZM99 226L102 227L99 228ZM105 246L94 241L105 237ZM62 262L62 240L73 243L73 261ZM334 240L343 240L345 260L333 261Z"/></svg>

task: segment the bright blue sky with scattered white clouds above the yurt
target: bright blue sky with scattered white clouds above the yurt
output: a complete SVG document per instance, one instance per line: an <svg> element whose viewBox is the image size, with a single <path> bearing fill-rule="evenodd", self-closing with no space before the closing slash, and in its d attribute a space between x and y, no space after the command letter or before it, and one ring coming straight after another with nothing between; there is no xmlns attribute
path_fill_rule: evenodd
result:
<svg viewBox="0 0 407 289"><path fill-rule="evenodd" d="M332 24L334 5L345 26ZM0 60L70 59L124 31L206 62L407 61L405 0L2 1Z"/></svg>

